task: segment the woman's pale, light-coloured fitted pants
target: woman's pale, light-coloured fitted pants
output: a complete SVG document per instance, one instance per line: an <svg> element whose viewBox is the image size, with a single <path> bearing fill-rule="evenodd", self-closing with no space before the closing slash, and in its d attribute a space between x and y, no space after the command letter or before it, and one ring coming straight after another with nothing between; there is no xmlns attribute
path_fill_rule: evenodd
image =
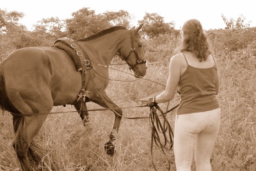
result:
<svg viewBox="0 0 256 171"><path fill-rule="evenodd" d="M197 170L211 170L210 156L220 128L220 108L176 115L174 155L177 170L191 170L195 152Z"/></svg>

